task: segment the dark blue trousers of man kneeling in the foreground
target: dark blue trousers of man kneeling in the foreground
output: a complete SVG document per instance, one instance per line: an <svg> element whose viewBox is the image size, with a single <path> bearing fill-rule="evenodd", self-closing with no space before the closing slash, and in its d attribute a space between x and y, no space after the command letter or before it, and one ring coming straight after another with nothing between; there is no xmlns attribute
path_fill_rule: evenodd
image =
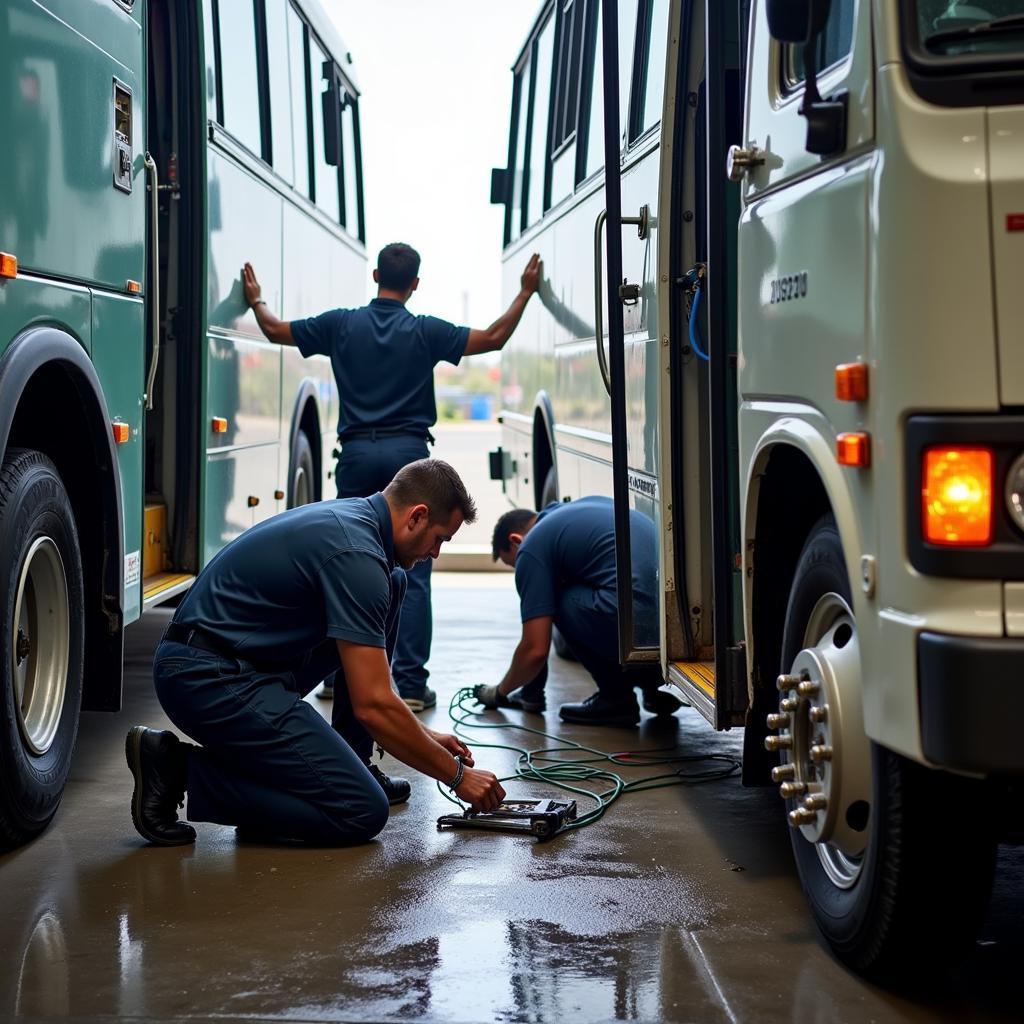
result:
<svg viewBox="0 0 1024 1024"><path fill-rule="evenodd" d="M389 656L404 575L399 568L391 574ZM352 714L343 670L335 673L332 725L302 699L322 675L260 671L181 643L160 644L157 696L202 744L187 749L190 820L310 843L366 842L384 827L387 797L367 767L373 739Z"/></svg>

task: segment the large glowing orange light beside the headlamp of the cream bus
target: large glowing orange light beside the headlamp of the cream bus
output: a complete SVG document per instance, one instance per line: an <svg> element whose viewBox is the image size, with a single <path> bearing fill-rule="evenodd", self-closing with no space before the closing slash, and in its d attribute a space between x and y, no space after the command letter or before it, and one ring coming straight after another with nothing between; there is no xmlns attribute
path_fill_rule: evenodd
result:
<svg viewBox="0 0 1024 1024"><path fill-rule="evenodd" d="M922 525L929 544L982 548L992 541L990 449L925 450Z"/></svg>

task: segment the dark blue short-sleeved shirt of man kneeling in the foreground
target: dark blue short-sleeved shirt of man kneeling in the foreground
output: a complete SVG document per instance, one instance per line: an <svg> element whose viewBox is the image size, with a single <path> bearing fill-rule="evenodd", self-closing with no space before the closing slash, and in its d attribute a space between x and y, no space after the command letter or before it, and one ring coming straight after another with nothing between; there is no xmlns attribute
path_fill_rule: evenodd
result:
<svg viewBox="0 0 1024 1024"><path fill-rule="evenodd" d="M315 502L231 541L199 574L174 622L202 628L225 654L256 665L306 664L325 640L384 647L393 567L382 494ZM336 662L337 645L324 653Z"/></svg>

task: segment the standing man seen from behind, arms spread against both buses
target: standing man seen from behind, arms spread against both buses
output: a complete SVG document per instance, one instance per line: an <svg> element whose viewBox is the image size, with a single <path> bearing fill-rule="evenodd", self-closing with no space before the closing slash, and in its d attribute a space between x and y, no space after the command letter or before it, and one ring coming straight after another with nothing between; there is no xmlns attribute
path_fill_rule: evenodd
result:
<svg viewBox="0 0 1024 1024"><path fill-rule="evenodd" d="M436 316L415 316L406 308L420 284L420 254L400 242L380 251L374 270L377 298L369 305L331 309L308 319L279 319L246 263L246 300L263 334L278 344L297 345L305 356L331 357L341 397L339 498L372 495L401 466L427 456L430 428L437 420L434 367L441 360L458 366L464 355L501 350L537 291L541 270L535 253L512 304L485 331L476 331ZM398 692L417 712L437 700L427 686L426 668L432 632L430 567L427 561L409 574L392 666Z"/></svg>

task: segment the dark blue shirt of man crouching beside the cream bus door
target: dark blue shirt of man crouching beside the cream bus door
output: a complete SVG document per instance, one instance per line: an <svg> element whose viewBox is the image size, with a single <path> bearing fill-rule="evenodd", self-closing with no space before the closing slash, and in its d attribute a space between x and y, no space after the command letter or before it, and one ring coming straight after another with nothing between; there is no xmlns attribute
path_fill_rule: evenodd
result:
<svg viewBox="0 0 1024 1024"><path fill-rule="evenodd" d="M650 631L658 604L657 534L654 523L630 512L633 599L638 627ZM594 592L595 610L606 612L611 629L617 621L615 584L615 513L610 498L580 498L547 506L519 546L515 586L522 621L554 617L559 594L566 587ZM656 627L656 620L653 620Z"/></svg>

